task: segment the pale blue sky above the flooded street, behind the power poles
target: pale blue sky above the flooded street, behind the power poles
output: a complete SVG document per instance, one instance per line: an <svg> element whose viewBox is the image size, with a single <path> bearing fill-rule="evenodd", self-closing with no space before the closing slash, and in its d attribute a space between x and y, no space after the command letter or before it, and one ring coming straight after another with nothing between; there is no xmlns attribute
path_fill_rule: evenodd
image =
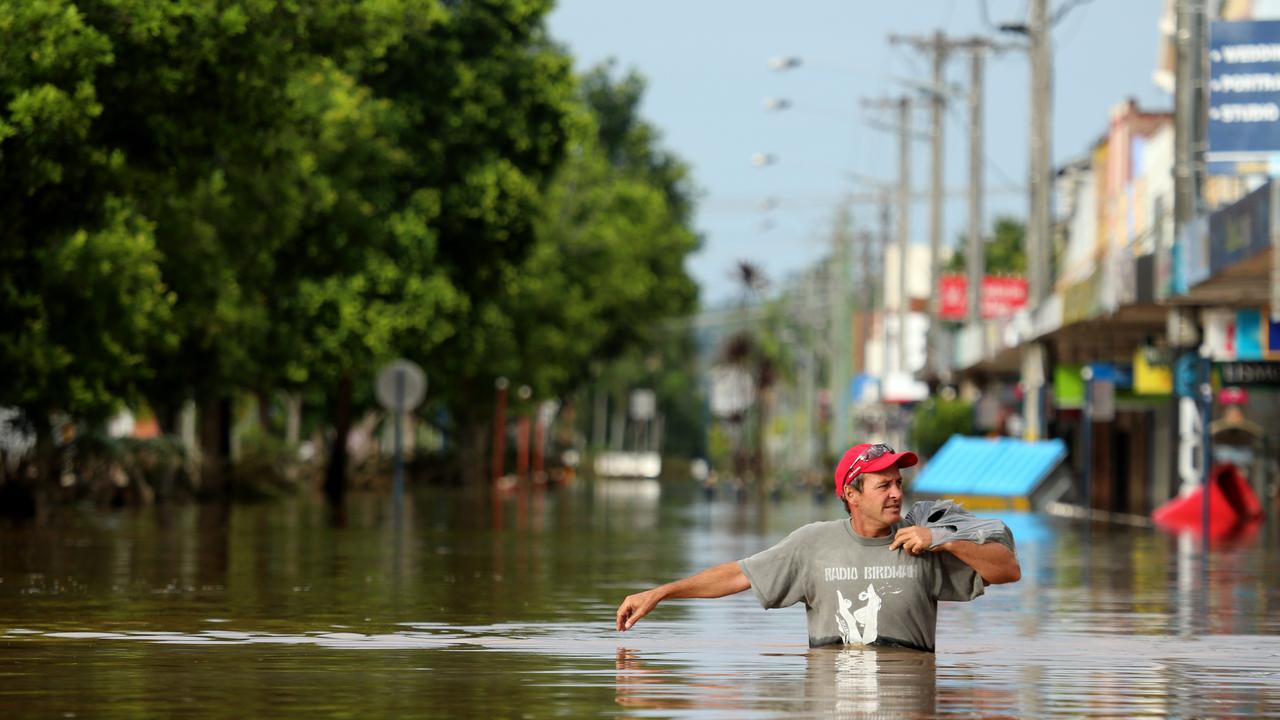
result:
<svg viewBox="0 0 1280 720"><path fill-rule="evenodd" d="M1052 10L1074 0L1052 0ZM890 33L992 35L982 0L559 0L550 32L580 68L609 58L636 68L649 81L644 115L668 149L690 163L701 200L698 229L703 249L689 270L703 288L704 305L736 297L730 273L751 260L774 282L828 252L840 199L865 193L849 174L893 181L893 135L873 129L863 97L901 94L895 78L928 79L929 60L893 47ZM988 0L993 23L1024 22L1025 0ZM1134 97L1147 109L1169 109L1172 99L1152 82L1162 0L1079 3L1053 28L1053 158L1084 154L1107 127L1112 106ZM1051 12L1052 12L1051 10ZM1006 36L1004 40L1018 40ZM769 69L773 56L803 59L785 73ZM968 56L954 55L947 78L966 83ZM1029 78L1024 53L987 61L987 218L1025 217ZM767 97L792 108L768 111ZM968 178L966 109L952 104L946 137L947 187L963 191ZM922 110L915 126L927 127ZM768 152L776 164L756 168L751 156ZM927 190L928 145L913 147L913 186ZM1018 188L1012 191L1011 188ZM767 199L777 206L764 210ZM966 224L961 196L945 209L945 241ZM913 242L928 242L927 206L911 217ZM855 224L873 228L876 210L855 205ZM768 220L768 222L767 222Z"/></svg>

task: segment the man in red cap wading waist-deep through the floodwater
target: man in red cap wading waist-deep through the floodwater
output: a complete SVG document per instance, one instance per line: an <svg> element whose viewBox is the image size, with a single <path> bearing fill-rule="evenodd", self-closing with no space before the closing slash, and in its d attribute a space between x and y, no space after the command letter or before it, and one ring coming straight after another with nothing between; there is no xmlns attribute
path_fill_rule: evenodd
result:
<svg viewBox="0 0 1280 720"><path fill-rule="evenodd" d="M877 644L933 652L938 601L968 601L1021 577L1014 538L950 501L916 502L902 515L901 468L914 452L858 445L836 465L849 520L805 525L737 562L627 596L617 625L630 630L671 597L755 591L765 609L804 602L809 646Z"/></svg>

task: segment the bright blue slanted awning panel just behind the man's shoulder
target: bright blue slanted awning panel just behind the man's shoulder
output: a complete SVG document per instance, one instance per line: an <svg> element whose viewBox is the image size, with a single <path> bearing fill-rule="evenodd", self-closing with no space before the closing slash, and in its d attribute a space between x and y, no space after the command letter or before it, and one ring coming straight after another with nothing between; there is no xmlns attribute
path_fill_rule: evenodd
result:
<svg viewBox="0 0 1280 720"><path fill-rule="evenodd" d="M1028 442L1014 438L954 436L924 466L911 489L919 495L1019 500L1029 509L1033 496L1066 457L1061 439ZM966 502L968 503L968 502Z"/></svg>

